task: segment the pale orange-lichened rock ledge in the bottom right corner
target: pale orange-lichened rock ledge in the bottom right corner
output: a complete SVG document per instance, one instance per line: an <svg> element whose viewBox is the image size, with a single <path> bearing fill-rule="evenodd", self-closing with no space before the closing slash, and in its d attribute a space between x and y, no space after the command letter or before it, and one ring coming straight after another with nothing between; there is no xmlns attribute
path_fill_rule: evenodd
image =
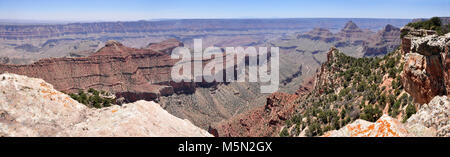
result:
<svg viewBox="0 0 450 157"><path fill-rule="evenodd" d="M450 137L449 114L449 99L437 96L406 123L388 115L383 115L375 123L359 119L339 130L327 132L324 137Z"/></svg>

